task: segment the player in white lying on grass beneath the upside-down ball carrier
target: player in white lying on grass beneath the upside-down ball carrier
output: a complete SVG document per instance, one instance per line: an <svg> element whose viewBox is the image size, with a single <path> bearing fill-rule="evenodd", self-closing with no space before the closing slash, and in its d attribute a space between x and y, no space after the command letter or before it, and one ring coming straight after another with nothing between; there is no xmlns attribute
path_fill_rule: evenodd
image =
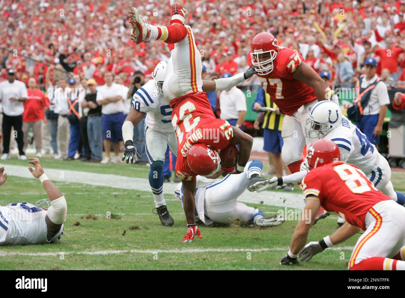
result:
<svg viewBox="0 0 405 298"><path fill-rule="evenodd" d="M205 146L205 145L201 145ZM221 180L197 176L197 187L194 192L196 220L205 225L213 223L254 224L258 227L276 227L281 225L284 217L266 217L257 208L248 207L237 202L238 197L246 190L247 183L254 177L260 177L263 163L258 160L249 161L242 174L227 175ZM215 176L220 176L219 171ZM183 204L183 186L177 185L176 198Z"/></svg>

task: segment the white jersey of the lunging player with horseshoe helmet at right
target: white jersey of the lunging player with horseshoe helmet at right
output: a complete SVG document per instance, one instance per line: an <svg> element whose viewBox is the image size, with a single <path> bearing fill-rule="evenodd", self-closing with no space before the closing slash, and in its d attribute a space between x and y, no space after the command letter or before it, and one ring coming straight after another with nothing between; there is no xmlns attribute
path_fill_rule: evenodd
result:
<svg viewBox="0 0 405 298"><path fill-rule="evenodd" d="M339 146L341 161L355 165L364 173L369 173L378 166L379 152L356 125L342 116L339 127L324 136Z"/></svg>

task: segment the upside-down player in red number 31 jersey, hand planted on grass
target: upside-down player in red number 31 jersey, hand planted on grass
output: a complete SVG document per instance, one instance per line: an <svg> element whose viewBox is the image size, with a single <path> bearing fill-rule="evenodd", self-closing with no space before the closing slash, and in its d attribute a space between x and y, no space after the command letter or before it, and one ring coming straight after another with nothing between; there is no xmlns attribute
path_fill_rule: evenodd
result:
<svg viewBox="0 0 405 298"><path fill-rule="evenodd" d="M206 154L212 156L216 167L215 171L209 173L210 176L220 169L220 159L215 149L224 149L229 144L239 144L240 154L237 165L223 169L228 174L239 174L243 172L249 159L253 142L252 137L230 126L226 120L215 118L207 94L202 89L200 52L195 44L191 27L184 24L187 15L187 11L179 3L175 3L172 5L170 26L156 27L147 24L135 8L132 8L129 13L130 22L134 28L132 40L135 43L141 43L145 39L156 39L168 43L171 49L173 67L168 68L162 89L166 101L173 108L171 122L177 135L175 174L183 183L183 206L188 224L183 242L191 242L196 234L201 238L194 216L194 190L195 177L203 173L196 173L190 169L187 163L190 148L197 143L211 146L213 150L210 149ZM230 89L253 74L254 71L250 71L225 78L226 80L213 81L211 86L215 85L215 89L210 91ZM203 176L206 175L203 174Z"/></svg>

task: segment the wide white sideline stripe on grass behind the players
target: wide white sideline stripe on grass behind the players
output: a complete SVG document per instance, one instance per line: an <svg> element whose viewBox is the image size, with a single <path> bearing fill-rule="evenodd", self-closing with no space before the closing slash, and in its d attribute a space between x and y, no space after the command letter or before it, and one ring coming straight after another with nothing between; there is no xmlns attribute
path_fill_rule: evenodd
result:
<svg viewBox="0 0 405 298"><path fill-rule="evenodd" d="M32 178L32 174L28 172L27 167L21 165L7 165L7 174L9 176L17 176L22 178ZM133 178L127 176L81 172L72 170L46 169L47 176L50 180L67 183L83 183L98 186L107 186L117 189L134 189L135 191L150 192L149 181L146 178ZM177 183L163 184L163 193L173 195ZM15 200L16 198L14 198ZM169 199L169 197L168 197ZM282 206L289 208L303 208L303 195L297 193L263 191L260 193L252 193L245 191L239 198L238 202L256 204L260 208L261 203L271 206Z"/></svg>

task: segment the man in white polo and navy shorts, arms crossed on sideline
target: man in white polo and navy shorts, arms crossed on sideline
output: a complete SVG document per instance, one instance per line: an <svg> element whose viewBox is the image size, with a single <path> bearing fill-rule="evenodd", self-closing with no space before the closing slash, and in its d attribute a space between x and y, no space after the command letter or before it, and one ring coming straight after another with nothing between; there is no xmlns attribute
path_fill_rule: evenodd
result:
<svg viewBox="0 0 405 298"><path fill-rule="evenodd" d="M114 158L113 163L119 163L121 157L119 157L119 142L122 140L122 124L125 121L125 115L123 113L123 100L122 88L113 82L113 74L111 72L104 73L105 84L100 86L97 90L96 101L98 105L101 105L101 123L104 151L106 157L101 163L109 163L111 142L113 143Z"/></svg>

